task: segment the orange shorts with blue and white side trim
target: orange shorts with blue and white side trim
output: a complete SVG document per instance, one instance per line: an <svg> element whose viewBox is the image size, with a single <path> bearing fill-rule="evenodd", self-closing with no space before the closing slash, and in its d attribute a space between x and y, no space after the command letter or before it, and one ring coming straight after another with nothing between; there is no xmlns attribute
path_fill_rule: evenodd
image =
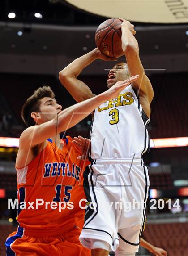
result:
<svg viewBox="0 0 188 256"><path fill-rule="evenodd" d="M90 250L79 242L79 227L60 231L47 234L18 227L5 242L7 256L90 256Z"/></svg>

